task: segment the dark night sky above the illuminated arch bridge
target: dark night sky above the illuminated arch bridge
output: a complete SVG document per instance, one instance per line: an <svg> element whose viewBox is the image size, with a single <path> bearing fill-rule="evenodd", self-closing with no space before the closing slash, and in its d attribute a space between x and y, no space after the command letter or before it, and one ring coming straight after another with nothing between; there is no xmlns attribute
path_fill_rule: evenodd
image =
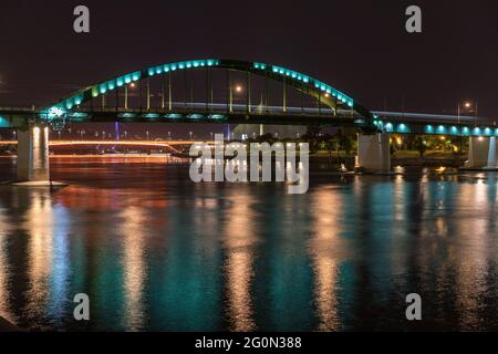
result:
<svg viewBox="0 0 498 354"><path fill-rule="evenodd" d="M75 34L73 9L91 10ZM404 30L423 10L423 33ZM197 58L309 73L372 110L498 116L498 2L404 0L0 2L0 104L46 104L116 74ZM404 97L404 98L402 98Z"/></svg>

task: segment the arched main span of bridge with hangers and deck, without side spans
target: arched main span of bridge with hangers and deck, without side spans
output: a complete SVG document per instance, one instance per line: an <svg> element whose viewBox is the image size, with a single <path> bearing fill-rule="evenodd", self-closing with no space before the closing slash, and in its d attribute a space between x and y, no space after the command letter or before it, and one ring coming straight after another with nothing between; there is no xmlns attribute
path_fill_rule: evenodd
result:
<svg viewBox="0 0 498 354"><path fill-rule="evenodd" d="M214 103L212 97L206 97L206 102L172 101L170 75L179 71L205 70L206 85L212 85L210 71L225 69L228 73L228 100L226 103ZM234 86L231 72L246 74L247 96L245 104L234 104ZM154 76L168 76L168 100L163 87L160 107L151 105L148 80ZM251 102L251 77L259 76L264 80L264 103ZM142 105L142 85L146 81L146 104ZM268 103L268 81L276 81L283 85L283 105L271 106ZM127 100L129 85L141 85L141 106L131 107ZM287 105L287 87L292 87L303 96L312 97L318 103L318 108L291 107ZM118 103L118 91L125 91L124 102ZM211 88L212 90L212 88ZM114 94L115 105L105 106L105 97ZM212 94L211 94L212 95ZM87 107L89 103L102 98L100 107ZM247 62L235 60L191 60L156 65L141 71L135 71L111 80L84 87L59 102L43 107L40 112L43 119L56 122L69 119L72 122L87 121L120 121L120 122L201 122L201 123L253 123L253 124L336 124L340 126L352 125L364 129L375 131L374 115L359 104L350 95L338 88L314 79L308 74L287 67L260 62Z"/></svg>

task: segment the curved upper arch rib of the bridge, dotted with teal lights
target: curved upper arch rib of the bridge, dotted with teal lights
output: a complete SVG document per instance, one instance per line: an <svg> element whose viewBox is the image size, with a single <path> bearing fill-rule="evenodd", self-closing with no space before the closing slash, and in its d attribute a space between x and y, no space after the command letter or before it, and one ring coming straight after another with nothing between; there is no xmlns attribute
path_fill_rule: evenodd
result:
<svg viewBox="0 0 498 354"><path fill-rule="evenodd" d="M367 108L360 105L350 95L310 75L282 66L260 62L217 59L168 63L121 75L82 88L70 96L62 98L56 104L46 107L45 112L48 113L48 116L61 116L63 113L71 111L85 102L100 97L108 92L113 92L114 90L131 84L132 82L137 82L139 80L168 72L200 67L230 69L235 71L249 72L274 81L286 82L286 84L320 100L324 105L331 108L354 111L363 118L374 118L373 114Z"/></svg>

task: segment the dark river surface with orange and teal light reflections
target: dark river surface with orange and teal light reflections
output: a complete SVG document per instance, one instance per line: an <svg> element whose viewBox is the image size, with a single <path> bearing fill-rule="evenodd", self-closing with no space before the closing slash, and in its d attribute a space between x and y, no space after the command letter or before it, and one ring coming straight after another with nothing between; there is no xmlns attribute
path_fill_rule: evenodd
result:
<svg viewBox="0 0 498 354"><path fill-rule="evenodd" d="M152 157L51 165L69 187L0 186L0 315L22 327L498 330L495 174L312 174L288 195ZM14 168L0 158L0 180Z"/></svg>

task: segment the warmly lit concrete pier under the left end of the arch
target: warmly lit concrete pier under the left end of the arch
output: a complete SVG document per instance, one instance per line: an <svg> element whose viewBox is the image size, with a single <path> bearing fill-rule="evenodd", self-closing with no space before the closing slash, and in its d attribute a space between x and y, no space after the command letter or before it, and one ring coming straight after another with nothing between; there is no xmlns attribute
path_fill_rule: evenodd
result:
<svg viewBox="0 0 498 354"><path fill-rule="evenodd" d="M49 183L49 127L18 131L18 181Z"/></svg>

